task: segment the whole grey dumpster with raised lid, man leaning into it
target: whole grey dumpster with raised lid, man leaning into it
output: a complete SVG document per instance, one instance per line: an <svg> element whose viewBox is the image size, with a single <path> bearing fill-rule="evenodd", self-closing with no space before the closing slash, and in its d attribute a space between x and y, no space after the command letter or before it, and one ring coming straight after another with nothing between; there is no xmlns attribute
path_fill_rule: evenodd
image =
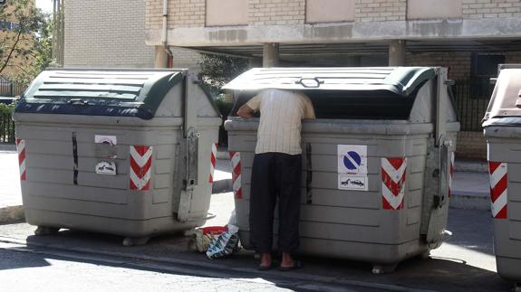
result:
<svg viewBox="0 0 521 292"><path fill-rule="evenodd" d="M267 88L303 90L314 104L317 118L302 130L303 254L368 261L381 273L439 246L459 129L446 74L442 68L254 69L225 86L235 90L233 112ZM257 126L257 118L225 124L246 248Z"/></svg>

